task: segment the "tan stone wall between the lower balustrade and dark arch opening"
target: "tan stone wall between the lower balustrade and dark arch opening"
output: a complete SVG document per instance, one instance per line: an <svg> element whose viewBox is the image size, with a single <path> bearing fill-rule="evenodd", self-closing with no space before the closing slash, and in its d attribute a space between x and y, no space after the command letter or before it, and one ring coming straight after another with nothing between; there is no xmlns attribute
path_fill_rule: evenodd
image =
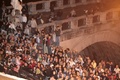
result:
<svg viewBox="0 0 120 80"><path fill-rule="evenodd" d="M69 47L80 52L89 45L102 41L113 42L120 46L120 21L114 24L110 22L99 24L90 27L90 30L88 29L87 32L86 29L83 29L79 37L62 41L61 46L64 48Z"/></svg>

